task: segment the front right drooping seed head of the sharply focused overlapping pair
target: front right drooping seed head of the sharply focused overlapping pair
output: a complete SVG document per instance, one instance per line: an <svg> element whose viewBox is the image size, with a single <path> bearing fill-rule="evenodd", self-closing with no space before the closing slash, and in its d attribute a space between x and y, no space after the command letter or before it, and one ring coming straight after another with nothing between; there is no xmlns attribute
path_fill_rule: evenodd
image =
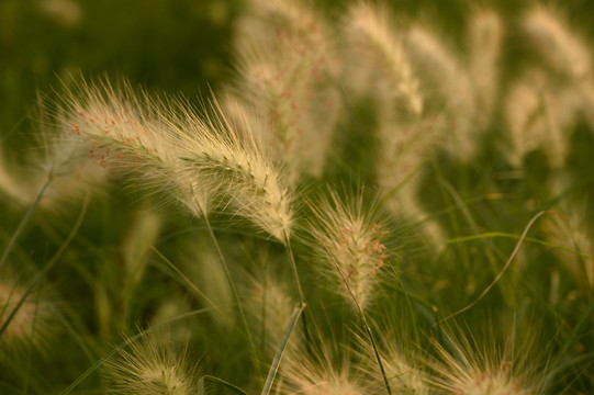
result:
<svg viewBox="0 0 594 395"><path fill-rule="evenodd" d="M206 120L189 115L180 127L178 154L182 177L200 181L235 214L281 241L291 235L291 193L281 170L256 140L250 125L233 125L214 101Z"/></svg>

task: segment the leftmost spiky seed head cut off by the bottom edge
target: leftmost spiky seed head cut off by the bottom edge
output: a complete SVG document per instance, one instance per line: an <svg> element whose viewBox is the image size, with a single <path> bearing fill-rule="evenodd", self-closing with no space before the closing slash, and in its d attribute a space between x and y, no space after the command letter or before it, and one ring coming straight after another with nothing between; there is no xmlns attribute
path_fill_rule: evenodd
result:
<svg viewBox="0 0 594 395"><path fill-rule="evenodd" d="M119 394L189 395L195 392L195 366L154 335L135 340L130 351L110 361L110 376Z"/></svg>

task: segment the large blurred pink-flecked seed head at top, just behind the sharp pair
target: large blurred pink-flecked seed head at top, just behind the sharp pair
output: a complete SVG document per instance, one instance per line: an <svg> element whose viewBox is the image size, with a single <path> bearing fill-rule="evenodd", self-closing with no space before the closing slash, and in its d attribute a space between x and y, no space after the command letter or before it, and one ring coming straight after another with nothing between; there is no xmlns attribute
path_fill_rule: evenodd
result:
<svg viewBox="0 0 594 395"><path fill-rule="evenodd" d="M340 110L333 40L299 1L254 1L240 24L239 101L262 122L262 143L282 151L289 179L318 177ZM247 38L247 40L246 40Z"/></svg>

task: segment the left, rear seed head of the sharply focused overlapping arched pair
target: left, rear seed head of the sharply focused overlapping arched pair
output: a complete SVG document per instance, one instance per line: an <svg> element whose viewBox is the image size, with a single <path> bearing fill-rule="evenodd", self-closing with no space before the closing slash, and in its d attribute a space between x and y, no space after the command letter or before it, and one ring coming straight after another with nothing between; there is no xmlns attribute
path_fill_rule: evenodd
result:
<svg viewBox="0 0 594 395"><path fill-rule="evenodd" d="M83 82L79 91L68 92L63 124L70 138L89 145L89 158L170 193L197 216L206 214L209 192L179 178L173 143L180 117L190 111L187 104L162 103L128 86L120 92L109 82Z"/></svg>

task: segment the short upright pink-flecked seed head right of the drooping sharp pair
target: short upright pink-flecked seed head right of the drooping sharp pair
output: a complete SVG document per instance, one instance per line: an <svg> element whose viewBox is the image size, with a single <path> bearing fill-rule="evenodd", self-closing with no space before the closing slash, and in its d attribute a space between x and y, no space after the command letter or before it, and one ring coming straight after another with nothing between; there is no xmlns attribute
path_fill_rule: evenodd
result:
<svg viewBox="0 0 594 395"><path fill-rule="evenodd" d="M352 292L365 308L376 295L389 252L382 242L388 232L363 204L362 195L345 202L330 191L329 198L312 205L316 215L312 235L315 253L324 262L321 272L332 279L332 290L351 302Z"/></svg>

